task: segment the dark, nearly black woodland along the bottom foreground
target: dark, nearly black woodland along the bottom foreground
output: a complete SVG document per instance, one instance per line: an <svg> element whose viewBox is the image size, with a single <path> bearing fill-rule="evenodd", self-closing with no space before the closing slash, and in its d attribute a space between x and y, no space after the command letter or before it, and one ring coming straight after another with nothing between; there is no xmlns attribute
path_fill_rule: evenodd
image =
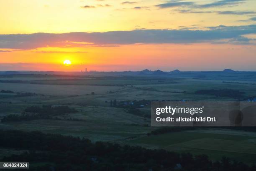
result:
<svg viewBox="0 0 256 171"><path fill-rule="evenodd" d="M174 153L38 131L0 131L0 146L28 150L1 159L30 162L36 171L256 171L242 162L210 161L208 156Z"/></svg>

